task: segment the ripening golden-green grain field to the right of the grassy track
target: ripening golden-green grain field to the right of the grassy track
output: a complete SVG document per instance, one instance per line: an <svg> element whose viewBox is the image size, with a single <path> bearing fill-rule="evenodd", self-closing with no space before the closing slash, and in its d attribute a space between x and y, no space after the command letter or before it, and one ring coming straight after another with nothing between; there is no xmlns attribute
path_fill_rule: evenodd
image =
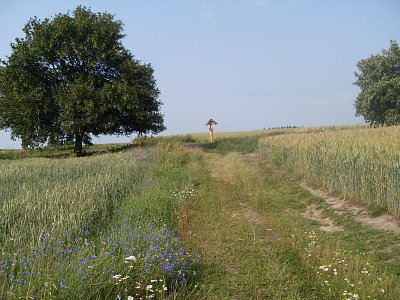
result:
<svg viewBox="0 0 400 300"><path fill-rule="evenodd" d="M317 185L400 215L398 126L271 136L260 151Z"/></svg>

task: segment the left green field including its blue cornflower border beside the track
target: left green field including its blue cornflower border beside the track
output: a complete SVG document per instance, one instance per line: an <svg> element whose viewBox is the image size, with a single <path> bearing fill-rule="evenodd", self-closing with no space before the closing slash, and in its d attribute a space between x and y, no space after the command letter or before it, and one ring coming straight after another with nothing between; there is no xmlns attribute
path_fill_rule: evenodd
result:
<svg viewBox="0 0 400 300"><path fill-rule="evenodd" d="M175 214L194 179L176 147L0 161L0 298L152 298L184 286L197 258Z"/></svg>

